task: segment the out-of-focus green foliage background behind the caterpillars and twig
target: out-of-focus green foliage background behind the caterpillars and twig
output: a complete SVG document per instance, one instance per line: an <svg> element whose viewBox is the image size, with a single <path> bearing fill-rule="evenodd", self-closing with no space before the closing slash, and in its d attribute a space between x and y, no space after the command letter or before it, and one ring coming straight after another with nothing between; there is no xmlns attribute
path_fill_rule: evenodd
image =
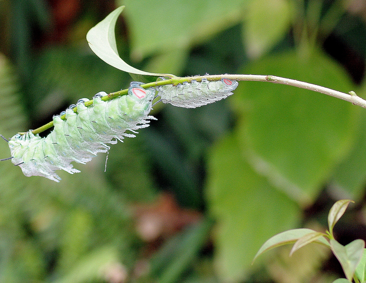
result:
<svg viewBox="0 0 366 283"><path fill-rule="evenodd" d="M365 93L366 10L350 1L3 0L1 134L41 126L79 98L155 79L131 78L87 46L87 31L119 5L119 53L134 67L271 74ZM320 272L322 251L309 264L299 251L289 265L283 249L250 263L272 235L321 230L334 199L356 201L340 242L365 238L365 109L263 82L240 82L232 97L201 108L154 108L158 121L112 146L105 173L103 154L78 164L82 173L61 172L59 184L0 163L0 282L337 276ZM5 141L0 152L9 157Z"/></svg>

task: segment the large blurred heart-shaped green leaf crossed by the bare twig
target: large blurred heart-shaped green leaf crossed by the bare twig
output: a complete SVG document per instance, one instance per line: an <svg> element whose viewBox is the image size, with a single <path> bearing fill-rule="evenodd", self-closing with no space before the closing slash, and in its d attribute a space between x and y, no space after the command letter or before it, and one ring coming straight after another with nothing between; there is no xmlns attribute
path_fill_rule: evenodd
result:
<svg viewBox="0 0 366 283"><path fill-rule="evenodd" d="M322 53L289 52L258 60L242 74L275 74L348 92L346 71ZM255 170L300 205L348 153L361 109L340 99L272 83L240 83L231 96L239 119L240 146Z"/></svg>

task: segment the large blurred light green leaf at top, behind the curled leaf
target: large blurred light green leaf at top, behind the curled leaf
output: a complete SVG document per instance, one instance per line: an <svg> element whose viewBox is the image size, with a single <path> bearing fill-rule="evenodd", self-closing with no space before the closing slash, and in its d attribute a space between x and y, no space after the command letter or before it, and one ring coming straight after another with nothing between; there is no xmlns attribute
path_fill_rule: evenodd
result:
<svg viewBox="0 0 366 283"><path fill-rule="evenodd" d="M141 61L189 49L238 23L248 0L181 0L162 5L156 0L119 0L131 37L132 59Z"/></svg>

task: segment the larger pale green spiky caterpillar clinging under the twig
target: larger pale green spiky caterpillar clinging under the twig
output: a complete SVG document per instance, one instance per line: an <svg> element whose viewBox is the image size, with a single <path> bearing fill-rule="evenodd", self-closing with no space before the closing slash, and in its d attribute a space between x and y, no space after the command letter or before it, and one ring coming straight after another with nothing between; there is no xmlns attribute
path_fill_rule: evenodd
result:
<svg viewBox="0 0 366 283"><path fill-rule="evenodd" d="M112 100L103 101L107 95L99 92L93 97L93 105L85 106L87 98L70 105L64 113L66 120L60 118L64 113L53 117L53 131L46 137L16 134L9 141L14 165L18 165L26 176L44 176L59 182L56 170L70 174L80 172L73 168L72 161L85 164L98 152L107 152L107 144L116 144L124 137L135 137L125 133L149 126L148 116L152 109L155 90L143 89L141 82L131 82L128 94ZM73 108L77 107L74 112Z"/></svg>

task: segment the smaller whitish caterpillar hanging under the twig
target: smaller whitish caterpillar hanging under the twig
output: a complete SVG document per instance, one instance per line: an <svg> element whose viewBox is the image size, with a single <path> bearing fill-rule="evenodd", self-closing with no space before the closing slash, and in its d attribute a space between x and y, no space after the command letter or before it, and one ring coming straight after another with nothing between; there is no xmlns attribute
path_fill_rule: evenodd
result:
<svg viewBox="0 0 366 283"><path fill-rule="evenodd" d="M237 81L226 78L222 78L221 81L208 81L203 78L201 82L192 80L191 83L183 82L176 86L163 85L157 89L163 103L184 108L196 108L230 96L231 91L238 85Z"/></svg>

